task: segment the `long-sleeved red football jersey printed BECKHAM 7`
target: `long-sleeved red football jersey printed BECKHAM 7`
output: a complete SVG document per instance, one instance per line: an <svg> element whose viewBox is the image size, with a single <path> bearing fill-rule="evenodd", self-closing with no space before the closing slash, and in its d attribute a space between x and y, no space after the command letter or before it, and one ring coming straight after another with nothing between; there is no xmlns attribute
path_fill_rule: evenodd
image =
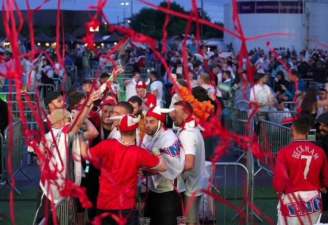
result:
<svg viewBox="0 0 328 225"><path fill-rule="evenodd" d="M276 159L273 187L285 194L328 187L328 163L322 148L306 140L295 140L282 148Z"/></svg>

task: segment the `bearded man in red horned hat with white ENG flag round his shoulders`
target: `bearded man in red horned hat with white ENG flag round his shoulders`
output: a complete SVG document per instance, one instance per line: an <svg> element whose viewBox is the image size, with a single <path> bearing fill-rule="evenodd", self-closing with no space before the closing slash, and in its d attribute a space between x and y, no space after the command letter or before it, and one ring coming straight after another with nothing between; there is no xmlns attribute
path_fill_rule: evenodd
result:
<svg viewBox="0 0 328 225"><path fill-rule="evenodd" d="M182 215L181 198L183 199L186 191L180 175L185 165L185 152L174 132L163 126L165 113L171 111L173 109L162 109L158 105L147 111L146 135L141 145L149 151L157 147L153 152L160 151L168 164L166 172L159 172L160 174L150 177L145 216L150 218L151 224L156 225L177 224L176 217ZM144 174L140 172L140 175Z"/></svg>

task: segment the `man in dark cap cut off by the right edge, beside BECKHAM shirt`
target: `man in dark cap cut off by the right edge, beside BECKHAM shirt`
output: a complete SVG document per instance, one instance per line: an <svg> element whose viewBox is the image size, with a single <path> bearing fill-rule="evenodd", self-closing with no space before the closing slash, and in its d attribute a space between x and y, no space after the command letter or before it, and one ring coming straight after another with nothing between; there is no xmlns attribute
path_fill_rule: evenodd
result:
<svg viewBox="0 0 328 225"><path fill-rule="evenodd" d="M328 113L321 114L316 123L316 130L319 133L319 139L315 142L320 146L328 158ZM328 223L328 193L327 187L321 189L322 214L321 223Z"/></svg>

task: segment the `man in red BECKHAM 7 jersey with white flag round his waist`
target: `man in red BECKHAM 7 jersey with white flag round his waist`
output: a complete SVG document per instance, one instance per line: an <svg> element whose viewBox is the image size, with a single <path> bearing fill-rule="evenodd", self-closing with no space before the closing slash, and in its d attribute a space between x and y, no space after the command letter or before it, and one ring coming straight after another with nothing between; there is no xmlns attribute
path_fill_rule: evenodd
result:
<svg viewBox="0 0 328 225"><path fill-rule="evenodd" d="M320 188L328 185L328 163L322 148L306 140L311 120L293 121L294 141L277 155L273 187L280 195L277 224L314 224L320 221Z"/></svg>

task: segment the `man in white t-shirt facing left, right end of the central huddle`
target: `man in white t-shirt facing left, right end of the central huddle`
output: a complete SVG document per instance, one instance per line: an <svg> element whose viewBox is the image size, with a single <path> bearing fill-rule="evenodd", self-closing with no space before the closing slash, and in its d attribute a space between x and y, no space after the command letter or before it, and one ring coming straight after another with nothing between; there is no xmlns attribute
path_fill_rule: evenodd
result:
<svg viewBox="0 0 328 225"><path fill-rule="evenodd" d="M183 202L185 210L190 205L186 214L188 225L196 225L198 222L199 204L202 196L202 193L198 191L205 188L206 182L204 140L197 128L197 120L192 117L192 114L193 107L186 101L179 101L174 103L174 111L170 115L174 125L180 127L176 135L186 155L182 177L186 184ZM195 195L192 197L194 193Z"/></svg>

